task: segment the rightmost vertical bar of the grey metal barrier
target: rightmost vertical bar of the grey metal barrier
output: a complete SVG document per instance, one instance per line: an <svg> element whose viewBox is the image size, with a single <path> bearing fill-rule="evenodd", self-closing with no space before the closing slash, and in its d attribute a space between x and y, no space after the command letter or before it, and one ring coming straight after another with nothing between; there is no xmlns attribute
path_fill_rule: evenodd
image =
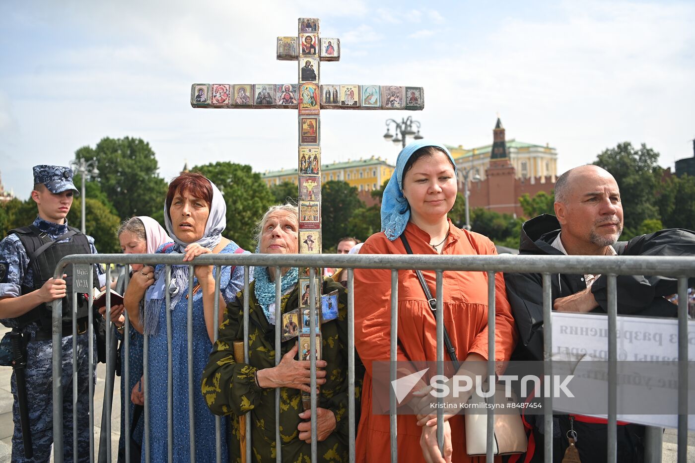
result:
<svg viewBox="0 0 695 463"><path fill-rule="evenodd" d="M678 278L678 463L688 453L688 279Z"/></svg>

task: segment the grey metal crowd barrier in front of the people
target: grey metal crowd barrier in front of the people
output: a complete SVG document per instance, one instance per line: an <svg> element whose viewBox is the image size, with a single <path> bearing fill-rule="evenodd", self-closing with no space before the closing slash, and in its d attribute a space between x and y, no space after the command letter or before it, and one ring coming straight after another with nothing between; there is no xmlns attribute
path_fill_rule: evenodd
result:
<svg viewBox="0 0 695 463"><path fill-rule="evenodd" d="M616 462L616 362L617 362L617 344L616 344L616 316L617 316L617 301L616 301L616 276L617 275L662 275L666 277L678 278L678 359L687 360L688 359L688 340L687 340L687 279L688 277L695 276L695 259L691 257L591 257L591 256L515 256L511 254L502 254L494 256L441 256L441 255L420 255L420 254L404 254L404 255L386 255L386 254L370 254L370 255L347 255L347 254L204 254L199 256L193 262L184 263L181 254L92 254L92 255L72 255L63 258L56 266L54 277L58 278L63 274L63 269L68 264L73 264L76 267L79 265L92 265L95 263L106 263L106 281L110 282L110 266L111 263L142 263L149 262L153 264L164 264L166 266L166 284L168 288L170 279L170 268L175 265L206 265L215 266L215 290L220 290L220 267L221 266L243 266L244 268L244 286L243 286L243 333L244 333L244 359L248 362L249 359L249 346L248 346L248 334L249 334L249 283L250 283L250 267L254 266L266 266L268 268L275 268L275 281L277 282L277 291L275 294L275 320L281 320L280 315L280 284L281 284L281 273L280 268L287 267L309 267L311 268L311 277L313 277L314 268L325 268L325 267L336 267L347 269L347 323L348 323L348 382L349 382L349 457L350 462L354 462L354 439L355 439L355 410L354 410L354 304L355 304L355 294L353 291L353 270L354 268L374 268L374 269L390 269L391 270L391 381L396 379L396 344L398 339L398 326L397 326L397 315L398 315L398 270L435 270L436 271L436 361L438 362L438 374L443 373L443 361L444 350L443 350L443 302L439 295L442 294L443 285L443 272L452 270L468 270L468 271L481 271L486 272L488 275L488 298L489 298L489 311L488 311L488 325L489 325L489 361L488 361L488 374L494 372L495 368L495 336L494 336L494 326L495 326L495 274L497 272L505 273L539 273L542 275L543 279L543 324L545 329L543 330L543 357L546 361L550 360L551 348L553 345L552 330L550 329L550 314L551 314L551 292L550 292L550 275L557 273L573 274L573 275L583 275L586 273L602 274L607 275L607 288L608 288L608 307L607 307L607 318L608 318L608 374L609 374L609 391L608 391L608 427L607 427L607 439L608 439L608 462ZM74 268L76 272L76 268ZM88 275L88 286L92 286L92 272L88 271L85 273ZM188 281L188 291L193 292L193 271L189 271L189 281ZM126 273L127 278L127 273ZM74 313L76 313L76 291L72 294L73 297L73 307ZM311 285L311 302L310 302L310 317L311 317L311 330L313 332L315 328L315 317L316 317L316 298L314 297L315 286ZM171 346L171 315L170 315L170 294L169 291L166 293L166 330L167 330L167 437L168 442L173 441L173 426L172 426L172 346ZM359 295L357 295L359 300ZM54 459L56 462L63 462L63 391L61 387L56 387L56 384L60 384L60 374L61 374L61 358L60 358L60 345L61 345L61 330L62 330L62 302L56 300L51 303L53 307L53 431L54 431ZM90 461L94 460L95 455L95 443L94 443L94 384L91 381L93 377L93 372L95 365L92 361L92 352L95 346L92 343L92 297L89 298L89 330L90 330L90 340L89 340L89 374L90 374ZM107 371L111 366L111 356L110 352L110 336L111 336L111 322L108 316L108 311L111 307L110 294L106 293L106 307L107 307L107 330L106 330L106 359L107 359ZM215 298L214 304L214 319L215 319L215 340L217 338L218 332L218 314L220 311L219 298ZM186 330L188 333L188 359L193 357L193 298L188 298L188 320ZM278 364L280 361L280 340L281 340L281 327L280 323L275 325L275 363ZM73 334L76 333L76 320L73 316ZM124 335L124 349L126 350L125 364L124 364L124 375L125 384L129 384L129 330L133 328L129 325L127 314L126 314L126 325L125 325L125 335ZM311 459L312 462L317 460L317 439L316 439L316 351L314 346L314 336L311 336ZM57 347L57 348L56 348ZM73 352L76 352L76 336L73 336ZM147 400L149 398L148 391L148 373L147 373L147 352L148 352L148 341L147 336L144 340L144 354L143 354L143 372L145 380L143 381L144 393L145 393L145 433L143 437L143 446L145 447L145 462L149 462L149 446L150 446L150 436L149 436L149 414L147 412ZM687 410L687 375L688 375L688 365L687 362L679 362L678 371L678 409ZM73 378L76 378L76 362L73 362ZM552 381L552 377L550 378ZM111 380L107 375L106 387L110 388ZM551 386L552 387L552 386ZM73 404L76 403L76 381L73 380ZM193 364L188 362L188 390L195 391L200 389L199 384L193 384ZM275 402L276 402L276 424L279 422L279 398L280 398L280 388L275 391ZM126 391L126 398L128 397ZM105 394L105 400L108 400ZM126 399L127 400L127 399ZM545 451L545 461L546 463L552 460L552 448L553 448L553 399L551 397L545 398L545 403L543 406L544 415L544 425L546 432L545 440L543 442L543 447ZM398 429L396 428L396 415L395 415L395 405L396 397L393 388L390 390L390 423L391 423L391 462L398 462L398 453L396 446L396 437L398 435ZM111 434L111 414L110 407L111 404L107 404L106 407L106 433ZM193 423L193 394L188 394L188 407L190 415L190 461L195 462L195 432ZM125 435L130 435L129 430L129 407L124 407L125 416L122 416L122 420L125 423ZM487 454L486 461L488 463L493 462L493 409L487 409ZM77 414L75 413L73 419L73 445L77 448ZM250 443L251 437L251 421L248 418L250 412L247 414L246 420L246 431L247 431L247 449L246 449L246 461L251 462L252 445ZM678 415L678 462L686 462L687 458L687 414ZM442 423L443 423L443 409L438 409L437 411L437 423L439 428L438 441L439 446L443 445L443 435L441 434ZM222 455L220 455L220 417L218 416L215 421L215 439L217 444L217 461L220 462ZM659 446L661 443L661 434L658 430L648 432L650 436L647 441L648 446ZM108 446L106 455L107 461L111 462L111 438L106 439L106 445ZM279 435L279 428L276 425L276 448L277 448L277 462L282 461L281 455L281 441ZM653 450L653 449L652 449ZM126 461L130 461L129 458L129 445L126 442L125 446ZM652 455L654 460L660 461L659 455L654 455L654 452L650 453L650 449L647 448L646 454L649 458ZM75 458L77 455L75 454ZM172 461L172 450L169 446L168 460ZM76 461L76 460L75 460Z"/></svg>

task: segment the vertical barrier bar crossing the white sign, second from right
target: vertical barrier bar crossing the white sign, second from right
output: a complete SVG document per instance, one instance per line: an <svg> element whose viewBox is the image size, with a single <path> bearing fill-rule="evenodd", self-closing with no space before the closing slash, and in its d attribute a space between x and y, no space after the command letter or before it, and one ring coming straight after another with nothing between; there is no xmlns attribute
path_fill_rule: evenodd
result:
<svg viewBox="0 0 695 463"><path fill-rule="evenodd" d="M607 275L608 283L608 332L616 333L618 329L618 300L616 295L616 276ZM606 461L615 463L618 457L618 340L617 336L608 336L608 442Z"/></svg>

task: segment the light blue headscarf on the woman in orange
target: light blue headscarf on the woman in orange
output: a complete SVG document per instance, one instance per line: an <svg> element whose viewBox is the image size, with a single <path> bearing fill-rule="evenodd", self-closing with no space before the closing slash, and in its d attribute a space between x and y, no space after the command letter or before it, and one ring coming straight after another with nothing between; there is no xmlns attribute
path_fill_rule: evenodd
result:
<svg viewBox="0 0 695 463"><path fill-rule="evenodd" d="M451 157L449 150L439 143L428 140L416 140L398 153L398 159L395 161L395 170L391 175L389 183L386 184L386 188L384 188L384 197L382 198L382 232L391 241L403 233L410 219L410 206L403 197L403 169L414 152L427 146L433 146L445 152L454 165L454 174L456 174L454 158Z"/></svg>

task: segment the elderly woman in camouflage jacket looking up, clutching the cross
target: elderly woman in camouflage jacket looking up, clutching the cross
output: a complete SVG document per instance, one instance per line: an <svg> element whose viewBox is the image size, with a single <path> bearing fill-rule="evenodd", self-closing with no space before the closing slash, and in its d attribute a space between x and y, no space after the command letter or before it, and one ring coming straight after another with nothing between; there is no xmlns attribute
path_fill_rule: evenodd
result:
<svg viewBox="0 0 695 463"><path fill-rule="evenodd" d="M272 206L258 225L261 254L296 254L297 206ZM310 362L297 360L297 340L281 344L282 359L275 365L274 268L254 268L250 284L249 362L234 356L234 343L243 341L243 293L227 304L218 341L203 373L202 392L214 414L231 415L231 451L243 455L243 431L238 417L251 412L252 452L258 462L275 462L275 429L279 426L284 462L311 460L311 411L302 409L302 392L311 390ZM281 269L281 313L299 306L299 270ZM316 362L320 385L316 409L318 461L347 461L347 293L330 278L323 293L338 291L338 318L321 325L321 359ZM361 380L356 382L361 385ZM275 422L275 388L280 388L280 421ZM359 389L358 389L359 391ZM259 425L259 423L263 423Z"/></svg>

